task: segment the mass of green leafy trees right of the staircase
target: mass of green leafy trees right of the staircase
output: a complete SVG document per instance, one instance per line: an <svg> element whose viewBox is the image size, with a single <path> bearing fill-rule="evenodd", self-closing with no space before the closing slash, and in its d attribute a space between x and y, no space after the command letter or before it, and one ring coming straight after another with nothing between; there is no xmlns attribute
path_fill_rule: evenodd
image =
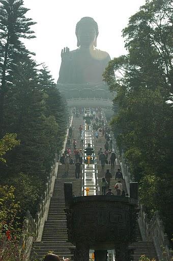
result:
<svg viewBox="0 0 173 261"><path fill-rule="evenodd" d="M114 58L104 80L116 91L111 121L117 143L140 182L149 215L159 211L171 235L173 191L173 31L172 1L140 7L123 30L128 54ZM166 204L165 204L166 202Z"/></svg>

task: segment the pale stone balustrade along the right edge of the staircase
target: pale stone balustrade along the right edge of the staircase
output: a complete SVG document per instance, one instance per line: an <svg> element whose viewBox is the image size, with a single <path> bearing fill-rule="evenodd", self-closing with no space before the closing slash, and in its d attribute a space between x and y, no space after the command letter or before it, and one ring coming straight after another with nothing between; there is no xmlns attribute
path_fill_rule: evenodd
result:
<svg viewBox="0 0 173 261"><path fill-rule="evenodd" d="M111 137L113 137L113 133L111 133ZM120 153L120 150L117 146L116 139L112 140L112 148L116 152L117 156L117 164L121 166L122 173L125 179L126 188L128 194L130 195L130 182L134 181L133 175L130 173L130 167L128 161L125 158L124 151ZM139 214L138 214L138 224L141 232L142 240L145 241L153 241L155 250L157 253L157 257L159 261L170 261L173 257L172 249L170 248L170 243L168 240L168 236L165 233L163 221L161 220L159 213L155 212L152 219L148 219L148 215L143 209L142 204L139 203Z"/></svg>

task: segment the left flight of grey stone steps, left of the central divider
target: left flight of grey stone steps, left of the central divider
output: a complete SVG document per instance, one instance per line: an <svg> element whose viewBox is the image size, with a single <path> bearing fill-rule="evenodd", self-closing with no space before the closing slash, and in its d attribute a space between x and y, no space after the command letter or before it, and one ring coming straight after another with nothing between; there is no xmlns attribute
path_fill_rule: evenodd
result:
<svg viewBox="0 0 173 261"><path fill-rule="evenodd" d="M77 141L77 148L81 147L80 135L78 127L82 124L82 118L73 118L72 124L75 127L74 138ZM75 159L73 153L73 138L71 139L72 158ZM54 253L66 258L72 258L70 249L74 249L70 242L67 242L67 224L66 215L64 212L64 182L72 182L73 193L75 196L81 196L81 178L75 178L75 165L70 165L69 174L65 175L65 165L59 165L57 178L55 179L53 195L50 200L49 212L47 221L44 224L44 230L41 242L34 242L30 256L31 261L43 260L43 257L48 253ZM72 251L73 252L73 251Z"/></svg>

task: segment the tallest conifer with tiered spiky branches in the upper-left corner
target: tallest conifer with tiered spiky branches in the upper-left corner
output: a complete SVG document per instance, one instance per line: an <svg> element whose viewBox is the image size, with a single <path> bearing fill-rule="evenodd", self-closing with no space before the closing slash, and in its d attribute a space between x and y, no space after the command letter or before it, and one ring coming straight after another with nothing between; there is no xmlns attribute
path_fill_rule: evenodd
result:
<svg viewBox="0 0 173 261"><path fill-rule="evenodd" d="M21 38L34 38L31 18L25 18L29 10L23 7L23 0L0 1L0 137L4 128L4 102L8 91L8 76L12 73L14 57L22 48ZM7 84L8 83L8 84Z"/></svg>

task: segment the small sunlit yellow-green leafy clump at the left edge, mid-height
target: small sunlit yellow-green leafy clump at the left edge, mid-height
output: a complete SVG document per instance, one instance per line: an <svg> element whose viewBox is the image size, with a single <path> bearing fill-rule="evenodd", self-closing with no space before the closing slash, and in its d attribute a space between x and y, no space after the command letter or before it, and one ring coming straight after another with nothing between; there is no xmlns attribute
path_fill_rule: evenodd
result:
<svg viewBox="0 0 173 261"><path fill-rule="evenodd" d="M6 163L6 160L2 157L7 151L11 150L15 146L20 144L19 140L16 140L16 134L6 134L3 139L0 140L0 161Z"/></svg>

